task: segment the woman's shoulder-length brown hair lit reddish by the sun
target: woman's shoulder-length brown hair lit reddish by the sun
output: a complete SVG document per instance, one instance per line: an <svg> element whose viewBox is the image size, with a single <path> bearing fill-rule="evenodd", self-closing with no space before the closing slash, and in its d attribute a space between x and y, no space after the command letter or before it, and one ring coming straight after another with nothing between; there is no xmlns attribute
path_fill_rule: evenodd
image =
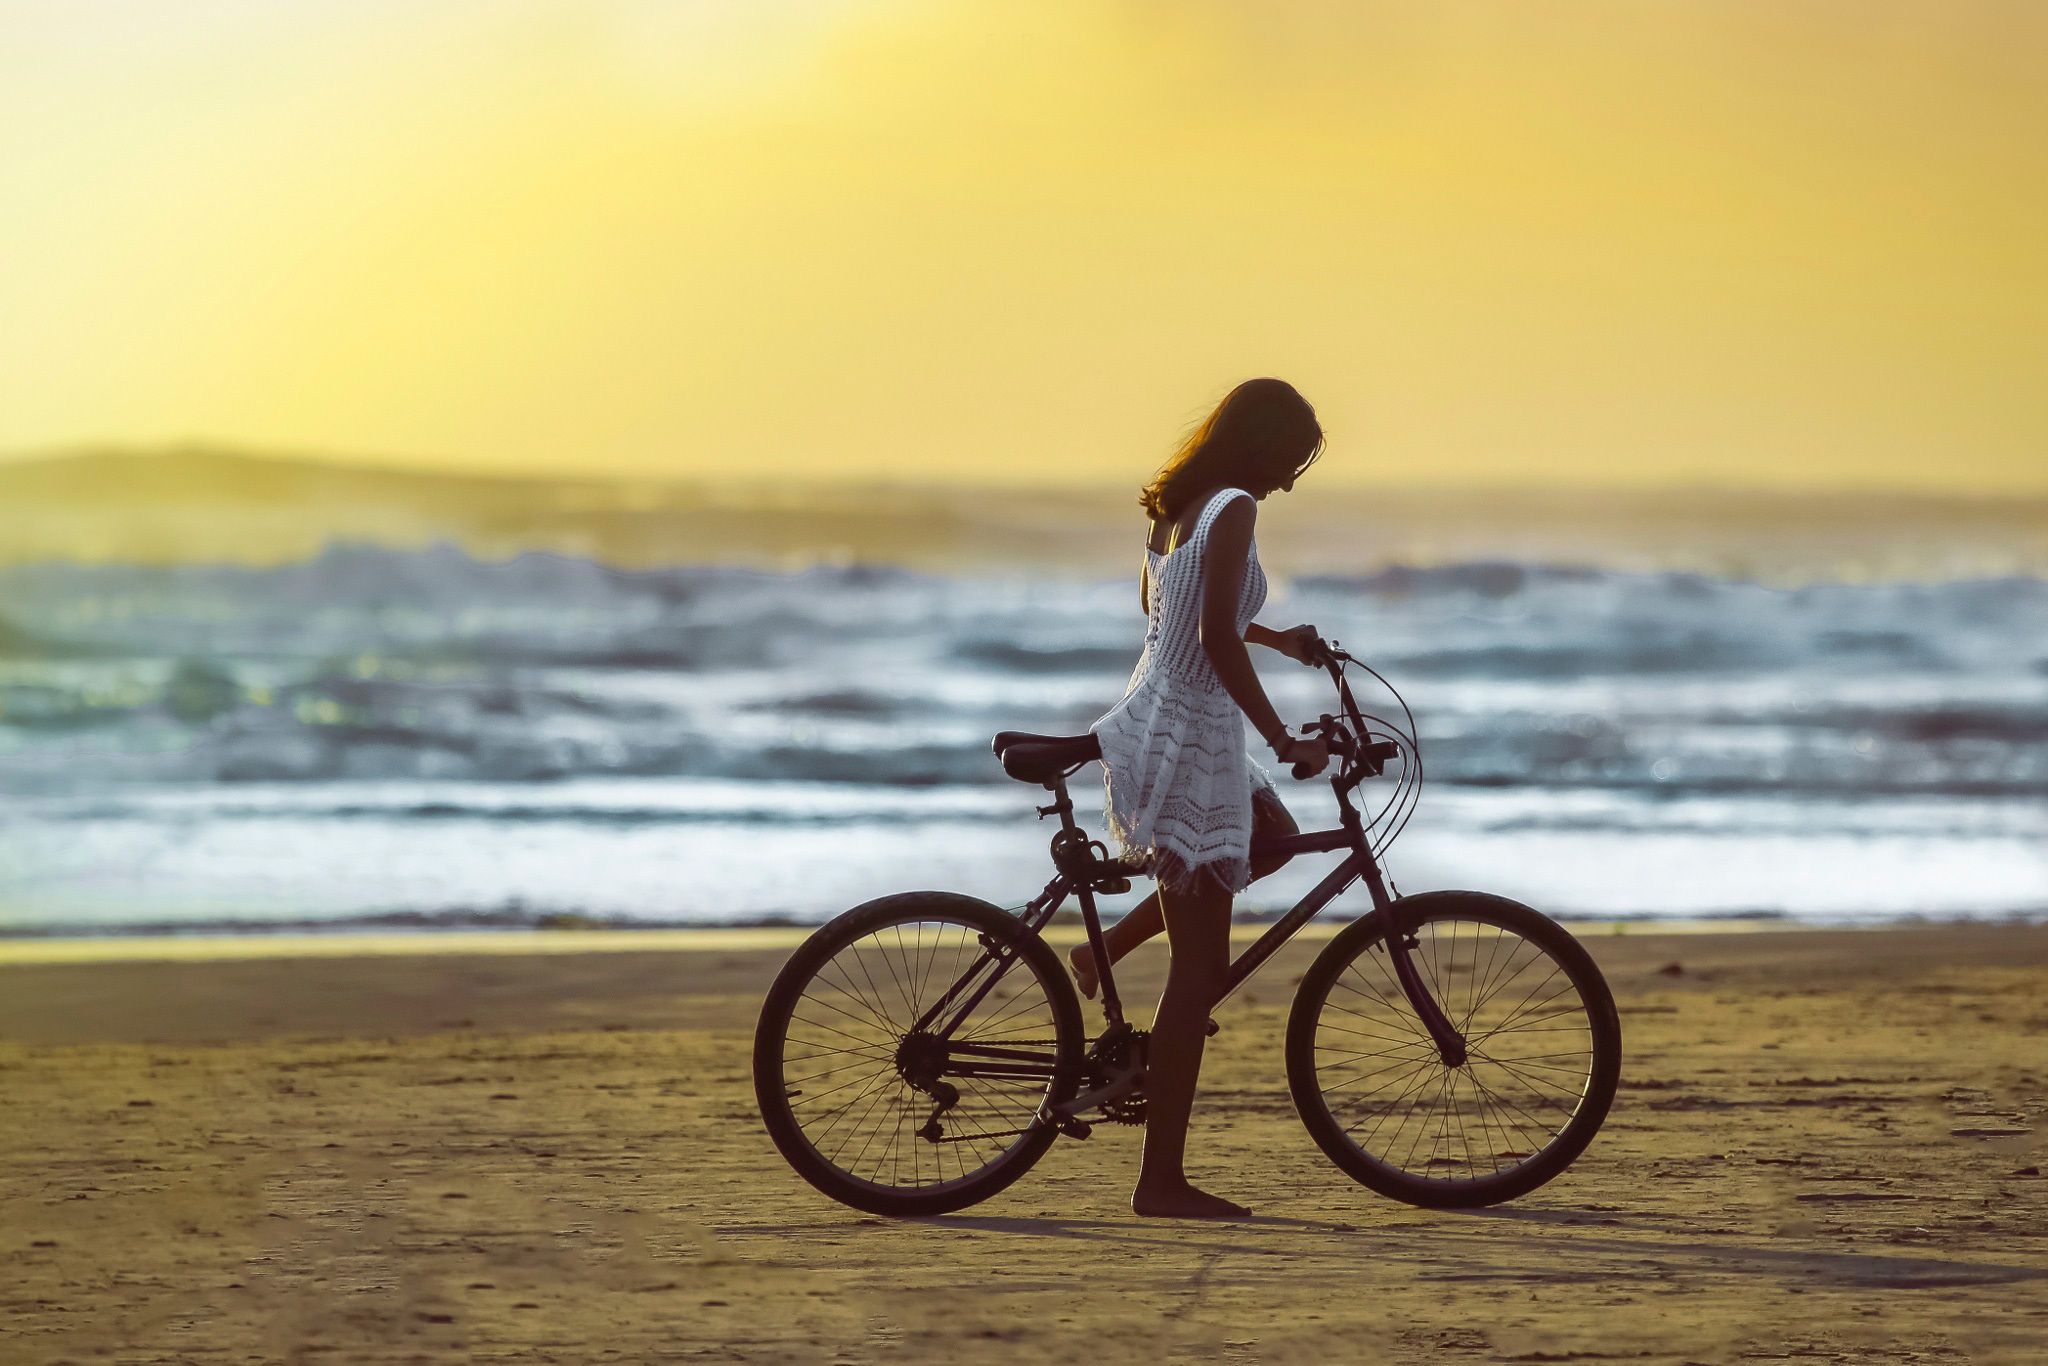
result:
<svg viewBox="0 0 2048 1366"><path fill-rule="evenodd" d="M1178 518L1188 500L1221 485L1270 494L1323 453L1323 426L1309 399L1284 379L1247 379L1223 395L1139 489L1153 518Z"/></svg>

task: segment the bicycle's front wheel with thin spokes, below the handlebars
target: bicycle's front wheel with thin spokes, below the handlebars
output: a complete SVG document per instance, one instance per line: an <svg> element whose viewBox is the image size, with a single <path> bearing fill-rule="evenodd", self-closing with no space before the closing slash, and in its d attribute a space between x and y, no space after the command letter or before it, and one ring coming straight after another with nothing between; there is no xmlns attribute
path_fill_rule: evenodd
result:
<svg viewBox="0 0 2048 1366"><path fill-rule="evenodd" d="M1286 1040L1294 1108L1337 1167L1384 1196L1432 1208L1513 1200L1569 1167L1614 1104L1614 995L1563 926L1518 901L1438 891L1397 905L1466 1061L1444 1065L1376 911L1303 977Z"/></svg>

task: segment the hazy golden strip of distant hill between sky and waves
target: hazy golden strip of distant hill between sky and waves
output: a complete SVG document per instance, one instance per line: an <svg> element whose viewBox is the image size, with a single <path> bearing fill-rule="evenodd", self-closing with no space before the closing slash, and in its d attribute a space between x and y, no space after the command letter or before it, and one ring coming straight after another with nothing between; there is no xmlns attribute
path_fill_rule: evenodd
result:
<svg viewBox="0 0 2048 1366"><path fill-rule="evenodd" d="M618 565L897 563L1128 573L1135 489L399 471L213 449L78 451L0 463L0 563L242 561L332 541ZM1765 580L2048 573L2048 498L1677 489L1317 489L1262 510L1282 573L1470 559L1700 569Z"/></svg>

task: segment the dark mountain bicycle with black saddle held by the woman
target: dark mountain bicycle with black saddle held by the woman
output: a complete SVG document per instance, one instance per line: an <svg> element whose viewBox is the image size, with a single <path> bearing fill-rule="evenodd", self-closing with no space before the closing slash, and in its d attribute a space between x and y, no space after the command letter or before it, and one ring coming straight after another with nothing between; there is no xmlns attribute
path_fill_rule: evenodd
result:
<svg viewBox="0 0 2048 1366"><path fill-rule="evenodd" d="M1614 1102L1614 995L1585 948L1520 901L1389 895L1378 856L1421 791L1415 719L1405 700L1407 729L1360 713L1350 666L1401 694L1335 643L1319 641L1313 661L1335 684L1337 715L1303 731L1337 760L1341 821L1253 854L1348 856L1231 965L1221 999L1362 879L1372 909L1321 950L1288 1016L1294 1108L1317 1147L1382 1196L1427 1208L1513 1200L1565 1171ZM791 956L756 1026L754 1094L774 1145L811 1186L872 1214L965 1208L1061 1135L1145 1122L1147 1034L1124 1020L1096 911L1096 893L1128 891L1141 868L1090 840L1067 797L1067 778L1102 752L1094 735L1022 731L995 735L993 750L1012 778L1053 795L1038 807L1061 821L1053 881L1014 913L942 891L856 905ZM1352 791L1393 760L1393 795L1366 821ZM1100 965L1104 1028L1092 1040L1042 938L1069 895Z"/></svg>

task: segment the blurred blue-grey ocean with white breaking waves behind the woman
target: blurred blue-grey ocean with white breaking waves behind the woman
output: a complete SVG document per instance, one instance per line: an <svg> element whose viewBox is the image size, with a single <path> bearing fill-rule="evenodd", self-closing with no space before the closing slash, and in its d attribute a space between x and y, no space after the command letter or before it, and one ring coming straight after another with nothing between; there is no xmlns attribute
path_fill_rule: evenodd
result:
<svg viewBox="0 0 2048 1366"><path fill-rule="evenodd" d="M2048 915L2048 580L1468 561L1276 573L1262 621L1317 625L1413 709L1399 891L1645 922ZM1085 729L1141 635L1133 575L1087 569L453 543L0 567L0 934L811 924L926 887L1018 905L1051 825L989 735ZM1321 674L1253 655L1282 715L1331 709ZM1399 715L1370 678L1360 700ZM1333 821L1319 780L1282 793ZM1098 770L1075 795L1100 834ZM1284 909L1325 868L1241 905Z"/></svg>

